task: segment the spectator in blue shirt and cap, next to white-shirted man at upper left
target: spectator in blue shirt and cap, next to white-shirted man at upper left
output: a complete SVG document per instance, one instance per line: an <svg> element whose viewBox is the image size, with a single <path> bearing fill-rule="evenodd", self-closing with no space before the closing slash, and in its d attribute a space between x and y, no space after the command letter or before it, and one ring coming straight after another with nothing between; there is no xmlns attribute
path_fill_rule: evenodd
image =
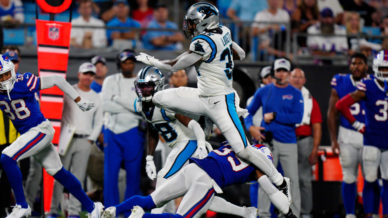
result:
<svg viewBox="0 0 388 218"><path fill-rule="evenodd" d="M117 16L107 22L108 27L136 27L140 24L130 18L129 5L126 0L117 0L113 6L117 11ZM127 29L107 29L106 35L108 43L111 45L114 40L133 40L135 38L135 31L128 31ZM135 43L133 41L133 43Z"/></svg>

